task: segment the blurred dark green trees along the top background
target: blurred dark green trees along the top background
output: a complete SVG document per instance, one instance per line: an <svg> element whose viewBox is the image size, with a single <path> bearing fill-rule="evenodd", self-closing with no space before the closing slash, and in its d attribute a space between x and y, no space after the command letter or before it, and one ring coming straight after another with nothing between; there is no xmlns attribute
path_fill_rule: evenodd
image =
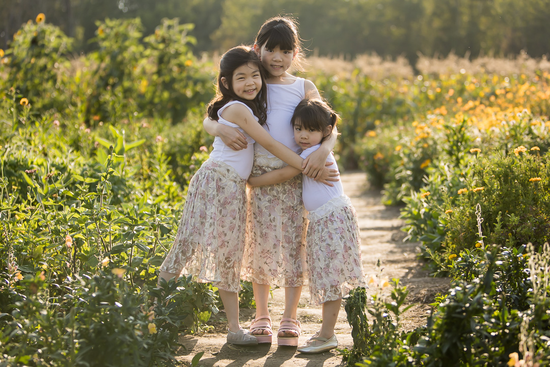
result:
<svg viewBox="0 0 550 367"><path fill-rule="evenodd" d="M252 42L263 21L279 13L298 18L305 46L322 56L376 52L415 65L419 54L541 57L550 49L546 0L18 0L0 8L0 48L38 13L73 37L79 52L96 47L89 43L95 22L106 18L140 18L151 35L162 18L178 17L195 24L193 50L212 52Z"/></svg>

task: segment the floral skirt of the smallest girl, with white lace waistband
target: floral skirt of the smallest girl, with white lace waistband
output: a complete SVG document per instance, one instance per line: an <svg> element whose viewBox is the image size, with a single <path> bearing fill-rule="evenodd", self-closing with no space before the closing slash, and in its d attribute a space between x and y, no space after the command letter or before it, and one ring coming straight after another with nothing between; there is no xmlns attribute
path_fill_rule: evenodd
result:
<svg viewBox="0 0 550 367"><path fill-rule="evenodd" d="M348 196L329 200L307 216L310 302L337 300L365 287L357 215Z"/></svg>

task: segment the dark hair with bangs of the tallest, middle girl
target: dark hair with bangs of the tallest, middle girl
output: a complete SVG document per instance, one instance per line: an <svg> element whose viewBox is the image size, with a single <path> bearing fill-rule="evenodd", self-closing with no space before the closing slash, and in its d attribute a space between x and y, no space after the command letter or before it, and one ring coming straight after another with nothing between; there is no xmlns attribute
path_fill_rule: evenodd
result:
<svg viewBox="0 0 550 367"><path fill-rule="evenodd" d="M278 16L267 19L260 27L254 43L260 47L265 45L271 50L279 46L281 50L294 51L294 68L303 69L301 64L304 55L298 36L298 22L294 18Z"/></svg>

